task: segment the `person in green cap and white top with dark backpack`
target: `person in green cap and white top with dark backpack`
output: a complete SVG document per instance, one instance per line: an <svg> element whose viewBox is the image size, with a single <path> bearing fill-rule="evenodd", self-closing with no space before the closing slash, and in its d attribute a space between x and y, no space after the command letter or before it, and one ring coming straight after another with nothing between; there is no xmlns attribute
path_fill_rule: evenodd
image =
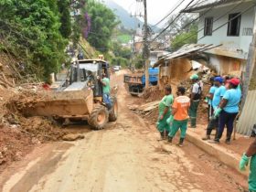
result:
<svg viewBox="0 0 256 192"><path fill-rule="evenodd" d="M189 117L191 121L191 128L197 127L197 109L199 102L202 96L203 83L199 80L197 74L194 74L190 77L192 80L191 94L190 94L190 108L189 108Z"/></svg>

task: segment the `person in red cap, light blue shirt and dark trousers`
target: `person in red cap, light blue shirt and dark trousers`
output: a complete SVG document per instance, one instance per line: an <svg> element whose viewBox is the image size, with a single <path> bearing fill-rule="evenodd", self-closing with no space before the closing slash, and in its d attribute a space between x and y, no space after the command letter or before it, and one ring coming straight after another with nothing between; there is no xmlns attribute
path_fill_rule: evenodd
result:
<svg viewBox="0 0 256 192"><path fill-rule="evenodd" d="M238 86L240 84L239 79L231 79L227 81L225 92L222 101L220 101L219 107L215 110L215 116L219 116L219 129L218 135L214 140L215 143L219 143L225 126L227 126L227 138L226 144L230 144L231 135L233 133L233 124L239 113L239 103L241 98L241 92Z"/></svg>

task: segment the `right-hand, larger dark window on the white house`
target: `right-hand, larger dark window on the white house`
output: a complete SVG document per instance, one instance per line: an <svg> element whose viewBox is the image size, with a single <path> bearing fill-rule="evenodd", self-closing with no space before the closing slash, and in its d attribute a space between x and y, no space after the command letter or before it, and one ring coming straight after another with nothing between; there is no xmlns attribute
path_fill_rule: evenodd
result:
<svg viewBox="0 0 256 192"><path fill-rule="evenodd" d="M240 13L229 15L228 36L240 36Z"/></svg>

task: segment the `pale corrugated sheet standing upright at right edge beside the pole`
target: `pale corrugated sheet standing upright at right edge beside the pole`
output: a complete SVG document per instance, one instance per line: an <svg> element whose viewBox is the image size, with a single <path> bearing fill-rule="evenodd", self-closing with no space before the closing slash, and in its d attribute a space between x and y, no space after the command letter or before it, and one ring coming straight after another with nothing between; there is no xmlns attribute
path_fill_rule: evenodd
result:
<svg viewBox="0 0 256 192"><path fill-rule="evenodd" d="M256 124L256 91L249 91L237 124L237 132L250 136L254 124Z"/></svg>

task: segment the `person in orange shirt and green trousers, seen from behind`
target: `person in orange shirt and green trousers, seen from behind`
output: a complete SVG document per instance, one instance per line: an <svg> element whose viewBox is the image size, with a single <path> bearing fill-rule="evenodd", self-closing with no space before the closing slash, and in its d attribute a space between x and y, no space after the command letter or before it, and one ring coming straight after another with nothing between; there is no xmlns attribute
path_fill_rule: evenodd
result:
<svg viewBox="0 0 256 192"><path fill-rule="evenodd" d="M171 132L168 135L168 142L172 144L176 132L180 129L179 146L183 146L188 122L188 109L190 106L190 99L185 95L186 89L184 87L177 88L177 97L173 104L174 121L172 124Z"/></svg>

